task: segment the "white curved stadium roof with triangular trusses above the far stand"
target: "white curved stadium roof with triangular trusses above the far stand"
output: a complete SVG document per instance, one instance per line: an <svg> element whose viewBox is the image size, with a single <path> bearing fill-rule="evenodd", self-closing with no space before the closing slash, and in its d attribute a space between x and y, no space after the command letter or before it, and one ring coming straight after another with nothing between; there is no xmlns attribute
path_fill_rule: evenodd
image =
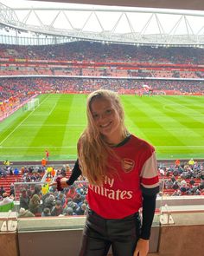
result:
<svg viewBox="0 0 204 256"><path fill-rule="evenodd" d="M0 35L7 36L8 40L12 36L15 43L21 43L22 38L29 36L33 38L34 44L92 40L136 45L204 46L204 11L48 4L45 1L0 2ZM89 1L83 1L85 2ZM144 1L143 4L147 2ZM128 3L132 1L127 1ZM199 6L202 8L204 3ZM29 41L24 42L26 44Z"/></svg>

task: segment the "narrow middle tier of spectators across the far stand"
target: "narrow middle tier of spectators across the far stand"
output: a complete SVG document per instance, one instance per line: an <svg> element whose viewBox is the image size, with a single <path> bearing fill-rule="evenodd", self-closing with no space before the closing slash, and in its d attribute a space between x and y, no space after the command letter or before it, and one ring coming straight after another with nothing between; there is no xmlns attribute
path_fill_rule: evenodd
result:
<svg viewBox="0 0 204 256"><path fill-rule="evenodd" d="M160 68L158 70L152 69L150 66L146 66L143 68L131 68L128 66L128 63L125 63L126 67L122 68L119 64L117 66L110 66L108 63L100 64L100 66L95 65L94 67L90 67L90 64L83 64L81 67L80 64L73 65L67 64L61 66L59 68L56 64L53 64L52 67L49 64L48 67L44 67L45 65L37 64L36 67L29 67L29 64L26 64L25 67L19 67L18 64L10 64L5 65L3 67L0 66L0 75L7 76L15 76L15 75L47 75L47 76L89 76L90 78L94 77L155 77L155 78L182 78L188 80L192 79L200 79L204 77L203 71L191 71L187 69L177 69L177 70L169 70ZM124 63L123 63L124 65Z"/></svg>

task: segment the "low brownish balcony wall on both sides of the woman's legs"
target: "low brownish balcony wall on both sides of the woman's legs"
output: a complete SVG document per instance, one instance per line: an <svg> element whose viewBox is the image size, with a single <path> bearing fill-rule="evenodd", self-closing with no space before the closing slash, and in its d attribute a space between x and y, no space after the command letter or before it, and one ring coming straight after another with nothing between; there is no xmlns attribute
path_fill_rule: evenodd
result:
<svg viewBox="0 0 204 256"><path fill-rule="evenodd" d="M157 250L157 252L149 253L148 255L204 255L204 213L176 213L172 217L175 221L174 224L153 227L150 250L154 252ZM160 232L157 238L156 230ZM0 232L0 255L77 256L80 248L81 232L81 229L60 231L38 230L36 232L22 231L18 233ZM110 252L109 255L111 256L112 253Z"/></svg>

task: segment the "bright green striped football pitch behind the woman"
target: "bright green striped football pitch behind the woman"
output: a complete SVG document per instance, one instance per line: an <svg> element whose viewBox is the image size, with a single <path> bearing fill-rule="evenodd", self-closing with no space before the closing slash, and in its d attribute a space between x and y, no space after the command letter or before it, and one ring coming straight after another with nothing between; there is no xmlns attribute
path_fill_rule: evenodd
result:
<svg viewBox="0 0 204 256"><path fill-rule="evenodd" d="M34 111L0 123L0 161L74 160L86 127L86 95L40 95ZM204 158L204 97L121 95L129 131L156 147L158 159Z"/></svg>

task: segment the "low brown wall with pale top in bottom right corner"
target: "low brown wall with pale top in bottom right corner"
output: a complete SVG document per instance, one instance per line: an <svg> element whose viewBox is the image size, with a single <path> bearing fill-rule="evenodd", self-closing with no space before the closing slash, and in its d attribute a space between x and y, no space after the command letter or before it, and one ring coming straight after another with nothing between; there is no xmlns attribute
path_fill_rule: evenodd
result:
<svg viewBox="0 0 204 256"><path fill-rule="evenodd" d="M174 225L163 225L157 253L150 256L203 256L204 213L173 214Z"/></svg>

